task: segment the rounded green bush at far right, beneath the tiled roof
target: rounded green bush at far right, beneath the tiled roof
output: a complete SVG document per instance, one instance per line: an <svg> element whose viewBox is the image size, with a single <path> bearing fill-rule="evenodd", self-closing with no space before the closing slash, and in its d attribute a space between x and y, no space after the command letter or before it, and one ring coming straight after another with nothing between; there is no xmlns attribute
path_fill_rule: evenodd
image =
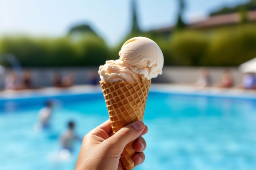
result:
<svg viewBox="0 0 256 170"><path fill-rule="evenodd" d="M212 36L202 62L208 66L238 66L256 57L255 26L224 29Z"/></svg>

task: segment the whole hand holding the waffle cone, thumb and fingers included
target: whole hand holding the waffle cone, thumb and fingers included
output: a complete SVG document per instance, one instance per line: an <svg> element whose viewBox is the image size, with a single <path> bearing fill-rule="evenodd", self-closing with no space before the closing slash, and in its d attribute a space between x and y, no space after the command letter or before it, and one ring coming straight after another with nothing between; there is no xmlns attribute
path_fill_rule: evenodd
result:
<svg viewBox="0 0 256 170"><path fill-rule="evenodd" d="M133 156L134 165L143 163L146 142L141 135L146 132L148 127L142 121L136 121L113 135L110 120L105 121L83 138L75 170L123 170L121 153L135 139L134 149L137 153Z"/></svg>

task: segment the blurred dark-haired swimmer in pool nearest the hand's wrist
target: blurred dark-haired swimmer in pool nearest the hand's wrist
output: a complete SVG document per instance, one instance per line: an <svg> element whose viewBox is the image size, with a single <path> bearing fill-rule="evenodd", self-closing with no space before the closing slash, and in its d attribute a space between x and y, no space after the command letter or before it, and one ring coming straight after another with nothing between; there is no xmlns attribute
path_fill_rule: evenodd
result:
<svg viewBox="0 0 256 170"><path fill-rule="evenodd" d="M82 138L77 136L74 132L75 124L73 121L69 121L67 124L67 131L61 135L61 148L68 150L69 152L73 151L73 143L75 140L82 141Z"/></svg>

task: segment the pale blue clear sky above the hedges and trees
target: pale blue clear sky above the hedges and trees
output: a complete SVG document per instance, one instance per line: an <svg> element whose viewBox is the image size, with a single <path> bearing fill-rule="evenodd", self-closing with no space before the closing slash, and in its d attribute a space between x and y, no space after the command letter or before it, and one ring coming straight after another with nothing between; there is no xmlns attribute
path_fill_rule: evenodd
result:
<svg viewBox="0 0 256 170"><path fill-rule="evenodd" d="M190 23L211 11L249 0L185 0L183 19ZM172 26L178 0L137 0L143 31ZM130 0L0 0L0 37L6 34L58 37L76 24L90 24L111 46L131 29Z"/></svg>

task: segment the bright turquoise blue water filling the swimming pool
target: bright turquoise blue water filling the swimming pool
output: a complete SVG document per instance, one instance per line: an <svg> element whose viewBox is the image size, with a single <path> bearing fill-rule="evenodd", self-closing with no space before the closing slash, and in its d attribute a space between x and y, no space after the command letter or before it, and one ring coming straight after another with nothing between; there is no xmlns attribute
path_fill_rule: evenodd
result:
<svg viewBox="0 0 256 170"><path fill-rule="evenodd" d="M0 99L1 170L74 169L81 142L59 155L59 136L70 119L76 134L108 119L101 93L58 95L51 128L34 129L47 97ZM255 170L256 99L150 92L144 122L145 162L135 170Z"/></svg>

